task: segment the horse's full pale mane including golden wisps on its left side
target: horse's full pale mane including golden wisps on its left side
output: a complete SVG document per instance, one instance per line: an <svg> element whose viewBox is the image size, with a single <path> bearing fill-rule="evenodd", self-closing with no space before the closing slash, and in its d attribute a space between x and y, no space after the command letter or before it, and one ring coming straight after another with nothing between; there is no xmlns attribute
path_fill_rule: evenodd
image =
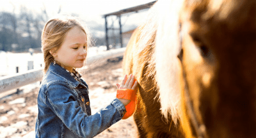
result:
<svg viewBox="0 0 256 138"><path fill-rule="evenodd" d="M168 116L171 115L175 125L177 125L177 120L180 118L178 79L180 67L177 56L181 49L179 43L179 11L182 3L182 0L157 1L148 11L148 17L141 28L140 40L138 41L140 47L138 54L143 55L142 58L147 59L145 61L149 61L148 70L145 73L151 79L156 79L154 83L159 89L157 93L159 99L157 100L161 103L161 112L166 121L168 121ZM148 50L150 50L150 54L143 54L145 51L148 53ZM161 72L157 72L157 70Z"/></svg>

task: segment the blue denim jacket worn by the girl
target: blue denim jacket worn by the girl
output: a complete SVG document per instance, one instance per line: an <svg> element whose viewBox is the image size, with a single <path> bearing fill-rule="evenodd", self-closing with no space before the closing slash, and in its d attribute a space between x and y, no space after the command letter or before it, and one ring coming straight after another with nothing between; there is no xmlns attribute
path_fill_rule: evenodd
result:
<svg viewBox="0 0 256 138"><path fill-rule="evenodd" d="M125 114L115 98L91 115L88 85L76 81L59 65L49 66L38 93L36 137L94 137Z"/></svg>

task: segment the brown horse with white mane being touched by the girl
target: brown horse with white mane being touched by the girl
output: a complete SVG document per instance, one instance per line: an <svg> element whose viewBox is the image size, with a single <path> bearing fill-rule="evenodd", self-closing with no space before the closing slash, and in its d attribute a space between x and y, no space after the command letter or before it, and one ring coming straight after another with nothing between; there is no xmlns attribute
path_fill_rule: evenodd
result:
<svg viewBox="0 0 256 138"><path fill-rule="evenodd" d="M256 137L256 0L157 1L127 45L140 137Z"/></svg>

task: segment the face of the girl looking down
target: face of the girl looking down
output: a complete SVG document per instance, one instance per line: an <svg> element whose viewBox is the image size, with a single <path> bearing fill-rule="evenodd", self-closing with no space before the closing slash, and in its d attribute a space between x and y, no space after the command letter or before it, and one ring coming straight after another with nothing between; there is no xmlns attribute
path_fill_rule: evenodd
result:
<svg viewBox="0 0 256 138"><path fill-rule="evenodd" d="M87 56L86 34L77 26L67 32L63 44L52 56L61 66L72 72L72 68L81 68Z"/></svg>

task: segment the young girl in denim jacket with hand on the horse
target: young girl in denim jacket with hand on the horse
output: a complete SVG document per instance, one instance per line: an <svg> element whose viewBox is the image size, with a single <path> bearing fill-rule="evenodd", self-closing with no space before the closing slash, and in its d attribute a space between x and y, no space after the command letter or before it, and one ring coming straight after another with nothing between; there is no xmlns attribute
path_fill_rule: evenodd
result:
<svg viewBox="0 0 256 138"><path fill-rule="evenodd" d="M84 66L88 42L84 27L76 19L52 19L45 24L45 75L38 93L36 137L94 137L123 118L129 98L115 98L91 115L88 85L75 70ZM127 89L127 94L135 90L137 82L133 82L133 75L125 75L122 83L116 84L118 91Z"/></svg>

